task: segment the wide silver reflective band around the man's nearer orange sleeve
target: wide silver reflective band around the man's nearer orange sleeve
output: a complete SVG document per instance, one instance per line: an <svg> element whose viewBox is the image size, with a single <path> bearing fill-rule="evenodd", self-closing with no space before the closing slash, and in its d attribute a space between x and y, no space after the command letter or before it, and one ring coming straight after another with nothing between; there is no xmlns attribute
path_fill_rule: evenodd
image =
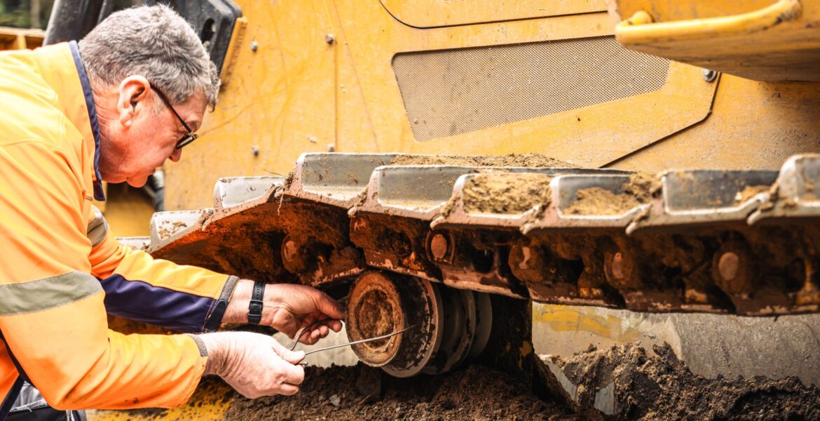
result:
<svg viewBox="0 0 820 421"><path fill-rule="evenodd" d="M96 277L71 271L19 284L0 285L0 315L30 313L69 304L103 291Z"/></svg>

